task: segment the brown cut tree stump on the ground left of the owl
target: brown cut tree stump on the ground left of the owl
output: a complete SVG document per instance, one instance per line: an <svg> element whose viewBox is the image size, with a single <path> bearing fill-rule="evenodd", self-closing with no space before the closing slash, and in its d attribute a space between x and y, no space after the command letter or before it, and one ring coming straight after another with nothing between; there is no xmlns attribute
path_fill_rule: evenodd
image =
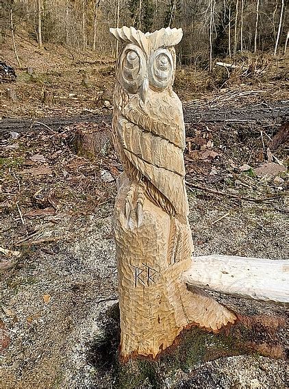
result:
<svg viewBox="0 0 289 389"><path fill-rule="evenodd" d="M99 154L105 155L110 145L108 129L93 123L78 124L70 145L75 154L90 160Z"/></svg>

